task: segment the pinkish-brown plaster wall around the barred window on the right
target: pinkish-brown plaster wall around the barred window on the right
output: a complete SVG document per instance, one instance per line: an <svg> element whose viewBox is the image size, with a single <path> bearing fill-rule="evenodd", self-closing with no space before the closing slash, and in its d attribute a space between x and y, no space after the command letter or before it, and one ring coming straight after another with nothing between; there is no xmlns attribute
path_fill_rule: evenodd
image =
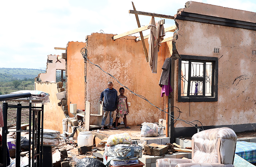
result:
<svg viewBox="0 0 256 167"><path fill-rule="evenodd" d="M219 11L222 7L214 8ZM204 13L204 9L200 10ZM199 120L203 126L255 123L256 56L252 55L252 50L256 50L255 31L184 20L176 22L179 54L218 57L218 101L178 102L178 90L174 89L174 104L183 112L180 119ZM214 53L214 47L220 48L220 53ZM178 60L175 68L178 71ZM174 81L178 88L178 73ZM177 121L174 126L189 125Z"/></svg>

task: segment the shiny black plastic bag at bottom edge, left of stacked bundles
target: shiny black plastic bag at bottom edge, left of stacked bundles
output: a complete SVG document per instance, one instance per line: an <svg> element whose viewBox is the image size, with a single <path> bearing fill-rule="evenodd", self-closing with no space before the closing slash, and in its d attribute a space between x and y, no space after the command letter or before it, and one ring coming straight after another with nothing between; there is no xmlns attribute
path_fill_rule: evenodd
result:
<svg viewBox="0 0 256 167"><path fill-rule="evenodd" d="M83 158L77 161L77 167L106 167L102 161L97 158Z"/></svg>

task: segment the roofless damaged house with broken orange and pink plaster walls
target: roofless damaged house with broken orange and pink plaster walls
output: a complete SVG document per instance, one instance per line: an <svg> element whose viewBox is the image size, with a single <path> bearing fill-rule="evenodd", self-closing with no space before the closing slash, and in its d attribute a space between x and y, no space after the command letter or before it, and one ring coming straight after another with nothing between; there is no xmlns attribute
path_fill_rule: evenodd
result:
<svg viewBox="0 0 256 167"><path fill-rule="evenodd" d="M130 103L127 116L130 126L166 119L166 135L171 140L192 136L198 129L224 126L235 132L255 131L255 15L188 1L174 16L173 37L161 43L156 74L145 59L142 41L135 36L113 40L116 35L92 33L85 42L69 42L66 52L53 60L53 64L61 61L65 67L52 67L62 73L65 70L66 99L61 107L57 105L61 100L55 95L62 92L58 91L60 87L51 82L54 78L43 77L50 70L49 58L47 73L39 74L35 82L36 90L51 95L51 103L44 108L44 127L62 131L63 110L66 116L74 117L69 111L70 104L77 104L81 110L87 104L87 111L97 115L100 93L112 81L115 89L125 85L134 92L125 88ZM147 39L145 45L148 48ZM169 58L173 92L161 97L161 68ZM167 108L164 111L172 116L135 94L161 110ZM98 125L98 117L91 116L89 122Z"/></svg>

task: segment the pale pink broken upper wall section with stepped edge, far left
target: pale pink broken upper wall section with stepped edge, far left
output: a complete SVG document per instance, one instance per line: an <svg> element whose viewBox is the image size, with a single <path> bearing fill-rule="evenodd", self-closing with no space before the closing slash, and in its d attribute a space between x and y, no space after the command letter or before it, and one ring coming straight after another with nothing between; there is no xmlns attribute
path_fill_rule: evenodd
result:
<svg viewBox="0 0 256 167"><path fill-rule="evenodd" d="M39 74L42 82L56 82L56 70L65 70L65 59L57 60L58 55L48 55L46 73ZM52 63L48 61L52 60Z"/></svg>

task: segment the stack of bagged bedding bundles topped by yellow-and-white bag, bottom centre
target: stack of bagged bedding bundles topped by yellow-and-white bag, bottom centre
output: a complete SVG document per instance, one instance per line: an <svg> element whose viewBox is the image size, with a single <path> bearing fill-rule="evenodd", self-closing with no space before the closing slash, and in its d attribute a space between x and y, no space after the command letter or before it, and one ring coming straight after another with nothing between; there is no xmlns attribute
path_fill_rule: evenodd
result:
<svg viewBox="0 0 256 167"><path fill-rule="evenodd" d="M128 133L110 135L105 145L104 164L111 166L126 166L139 163L142 157L142 147L132 144Z"/></svg>

